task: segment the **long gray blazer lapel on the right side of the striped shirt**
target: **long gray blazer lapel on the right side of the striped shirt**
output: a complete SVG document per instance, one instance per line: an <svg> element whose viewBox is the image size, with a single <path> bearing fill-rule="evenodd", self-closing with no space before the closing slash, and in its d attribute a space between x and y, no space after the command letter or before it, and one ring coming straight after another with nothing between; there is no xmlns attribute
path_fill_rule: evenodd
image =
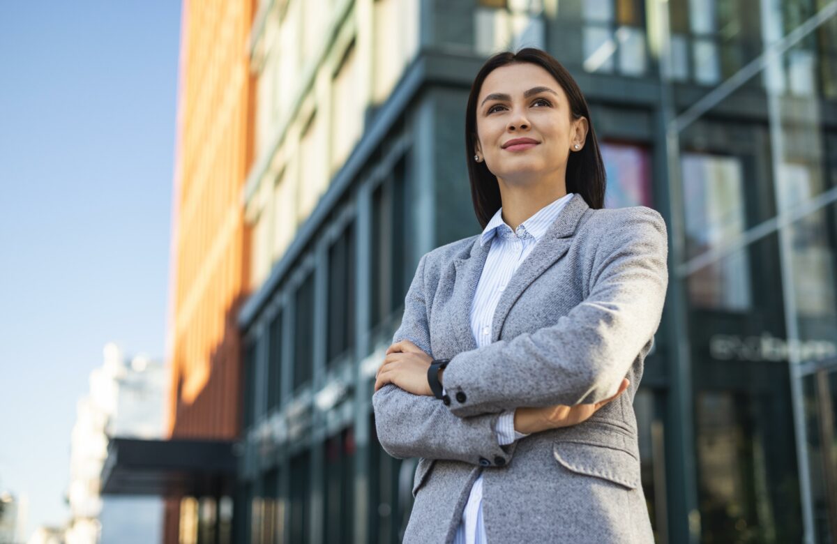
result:
<svg viewBox="0 0 837 544"><path fill-rule="evenodd" d="M573 243L573 235L578 227L578 221L588 208L588 204L580 194L573 195L573 198L561 210L561 213L558 213L558 217L547 229L543 238L538 241L535 248L531 250L531 253L511 276L511 280L509 280L509 284L503 291L494 311L494 318L491 323L492 342L500 339L506 316L508 316L511 306L526 290L526 287L537 280L538 276L542 275L552 264L555 264L558 259L561 259L564 254L567 254L570 244ZM483 263L485 263L485 259L483 259ZM476 276L476 280L480 280L479 275ZM470 323L470 319L466 322ZM470 326L469 336L473 336L470 334Z"/></svg>

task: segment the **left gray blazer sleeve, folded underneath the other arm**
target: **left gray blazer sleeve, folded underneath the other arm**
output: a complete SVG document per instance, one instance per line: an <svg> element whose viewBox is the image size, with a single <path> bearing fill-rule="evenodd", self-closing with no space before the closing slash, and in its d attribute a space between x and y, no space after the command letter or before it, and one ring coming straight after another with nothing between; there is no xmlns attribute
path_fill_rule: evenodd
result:
<svg viewBox="0 0 837 544"><path fill-rule="evenodd" d="M424 266L419 261L413 283L404 301L401 326L393 343L412 341L430 354L430 332L425 305ZM424 457L451 459L471 464L508 464L516 443L501 446L497 439L497 413L478 413L460 418L438 398L413 395L391 383L372 395L378 441L384 451L398 459Z"/></svg>

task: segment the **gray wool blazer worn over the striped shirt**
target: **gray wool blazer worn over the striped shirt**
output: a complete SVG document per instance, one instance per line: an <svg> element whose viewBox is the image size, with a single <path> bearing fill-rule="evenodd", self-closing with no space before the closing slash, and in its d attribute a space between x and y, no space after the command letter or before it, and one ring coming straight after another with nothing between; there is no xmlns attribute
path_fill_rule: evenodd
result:
<svg viewBox="0 0 837 544"><path fill-rule="evenodd" d="M372 397L383 449L421 458L404 541L452 541L482 471L490 544L653 542L633 399L668 285L660 213L593 210L576 194L512 276L492 343L477 349L470 306L489 248L473 236L425 254L393 338L451 358L449 404L392 384ZM623 377L629 390L588 421L498 444L503 410L595 403Z"/></svg>

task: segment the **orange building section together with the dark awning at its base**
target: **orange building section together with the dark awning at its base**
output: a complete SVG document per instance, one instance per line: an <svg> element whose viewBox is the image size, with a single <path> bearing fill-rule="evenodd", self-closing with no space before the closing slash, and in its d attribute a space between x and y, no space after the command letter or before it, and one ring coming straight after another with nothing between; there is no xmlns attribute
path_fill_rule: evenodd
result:
<svg viewBox="0 0 837 544"><path fill-rule="evenodd" d="M182 3L165 440L110 444L111 495L166 498L163 541L229 541L240 435L236 319L248 288L251 0Z"/></svg>

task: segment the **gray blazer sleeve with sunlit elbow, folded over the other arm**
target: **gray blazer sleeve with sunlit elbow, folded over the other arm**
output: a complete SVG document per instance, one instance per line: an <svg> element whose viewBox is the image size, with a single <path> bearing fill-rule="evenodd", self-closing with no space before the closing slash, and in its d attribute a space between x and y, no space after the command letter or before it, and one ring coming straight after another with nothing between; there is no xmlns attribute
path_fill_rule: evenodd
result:
<svg viewBox="0 0 837 544"><path fill-rule="evenodd" d="M616 393L660 325L668 286L660 213L629 208L623 218L593 240L590 293L567 316L453 357L442 377L451 413L598 403Z"/></svg>

